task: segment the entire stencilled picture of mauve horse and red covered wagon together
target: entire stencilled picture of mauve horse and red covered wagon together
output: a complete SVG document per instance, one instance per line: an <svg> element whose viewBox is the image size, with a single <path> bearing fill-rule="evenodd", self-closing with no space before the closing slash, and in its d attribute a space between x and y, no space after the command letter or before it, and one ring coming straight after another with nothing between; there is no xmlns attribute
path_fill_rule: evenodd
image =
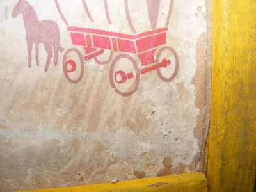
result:
<svg viewBox="0 0 256 192"><path fill-rule="evenodd" d="M166 46L167 26L170 22L173 1L174 0L170 1L165 27L158 29L157 20L160 1L145 1L152 30L137 33L132 24L128 1L126 0L124 2L126 19L132 33L136 33L136 35L130 35L100 29L69 26L58 0L55 0L54 2L58 13L60 14L63 22L67 25L67 30L70 32L72 44L84 48L83 53L76 47L72 47L65 51L63 56L63 73L65 74L65 77L71 83L79 83L84 76L84 62L94 59L95 62L100 65L110 64L109 81L111 83L111 87L116 93L122 96L129 96L136 92L140 84L140 76L148 72L156 71L159 79L166 82L172 81L179 70L177 52L172 47ZM82 0L81 3L83 3L84 12L90 21L94 22L86 1ZM104 1L104 10L106 20L111 24L107 0ZM26 0L19 0L12 12L12 17L17 17L19 14L23 15L24 26L26 28L28 67L31 68L31 52L34 43L36 49L36 65L39 65L38 44L43 43L45 51L48 54L45 65L45 72L47 72L52 58L52 51L54 53L54 65L57 65L58 52L62 52L64 50L60 45L60 30L58 28L58 24L52 20L39 21L35 9ZM160 46L161 49L156 52L157 47ZM109 53L109 58L105 61L99 61L97 56L104 54L104 50L106 49L111 51ZM167 54L168 56L166 56L166 54L165 56L162 56L162 54L164 55L164 52L169 52L169 54ZM70 53L77 54L78 60L67 60ZM134 57L138 57L138 61L140 62L134 60ZM129 62L127 65L132 64L133 68L131 71L125 72L124 70L118 70L115 68L116 63L124 60ZM127 63L127 61L125 63ZM164 70L166 70L166 72L164 72L164 74L167 74L167 77L166 75L163 76L163 70L160 70L161 68L165 68ZM72 77L72 73L78 73L79 76L74 78ZM134 85L125 88L125 83L127 81L134 81ZM125 91L122 91L124 89Z"/></svg>

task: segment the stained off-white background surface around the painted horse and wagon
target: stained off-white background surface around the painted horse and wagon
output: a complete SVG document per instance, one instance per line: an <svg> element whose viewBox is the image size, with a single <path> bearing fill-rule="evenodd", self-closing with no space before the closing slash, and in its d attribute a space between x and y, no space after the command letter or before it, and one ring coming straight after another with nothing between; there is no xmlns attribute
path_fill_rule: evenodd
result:
<svg viewBox="0 0 256 192"><path fill-rule="evenodd" d="M164 82L156 71L141 74L138 90L129 97L111 87L111 62L98 65L94 60L86 61L83 79L79 83L68 81L62 66L65 51L77 47L84 54L84 49L72 45L54 1L28 2L39 20L58 24L60 44L65 50L58 54L58 65L52 58L44 72L47 53L40 44L37 66L34 45L29 68L23 17L11 16L17 2L0 3L1 191L202 170L209 124L211 61L206 52L204 0L174 1L166 45L173 47L179 57L177 76ZM124 1L108 1L111 24L106 20L104 1L86 3L94 22L84 13L81 1L60 1L70 26L133 34ZM161 1L157 28L164 27L169 4L170 1ZM129 1L129 8L137 33L152 30L145 1ZM109 53L106 51L99 60L106 59ZM114 58L118 54L115 52ZM129 55L141 68L138 57ZM76 56L68 56L72 58ZM117 65L122 70L132 70L125 59ZM116 85L122 91L132 86L134 82L124 87Z"/></svg>

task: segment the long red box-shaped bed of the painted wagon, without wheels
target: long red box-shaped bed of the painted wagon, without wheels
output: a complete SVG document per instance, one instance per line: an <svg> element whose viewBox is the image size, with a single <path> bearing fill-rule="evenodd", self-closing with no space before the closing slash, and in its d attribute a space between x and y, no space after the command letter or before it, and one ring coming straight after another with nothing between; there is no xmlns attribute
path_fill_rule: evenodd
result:
<svg viewBox="0 0 256 192"><path fill-rule="evenodd" d="M68 27L72 44L115 52L140 53L166 44L167 27L129 35L99 29Z"/></svg>

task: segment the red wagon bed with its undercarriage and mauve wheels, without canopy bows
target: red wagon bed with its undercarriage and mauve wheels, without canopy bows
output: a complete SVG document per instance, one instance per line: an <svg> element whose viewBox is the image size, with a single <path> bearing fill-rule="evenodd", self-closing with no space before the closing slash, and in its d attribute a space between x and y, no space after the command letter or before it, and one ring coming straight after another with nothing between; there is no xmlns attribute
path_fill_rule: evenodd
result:
<svg viewBox="0 0 256 192"><path fill-rule="evenodd" d="M122 96L132 95L138 89L140 82L140 75L156 70L160 79L163 81L172 81L176 76L179 69L179 61L177 53L172 49L172 47L162 47L157 54L155 54L157 47L166 44L166 32L168 28L160 28L152 31L147 31L145 33L140 33L136 35L129 35L124 33L115 33L110 31L103 31L99 29L89 29L89 28L78 28L68 26L68 31L70 31L70 37L73 45L82 46L85 51L85 56L83 57L81 52L76 49L68 49L65 52L63 58L63 71L67 79L72 83L77 83L83 78L84 72L84 60L88 61L94 59L99 64L107 64L111 62L110 72L109 72L109 81L113 90L116 93ZM104 54L104 50L111 50L111 54L106 61L99 61L97 56ZM163 58L160 60L161 53L164 50L172 52L175 59L175 70L172 72L170 77L164 77L161 74L160 68L166 68L172 62L168 58ZM75 72L77 70L76 62L73 60L67 60L67 55L70 52L76 52L79 56L81 62L81 74L77 79L71 79L69 76L70 72ZM113 58L113 52L123 52ZM141 61L141 66L139 68L134 56L130 54L135 54ZM126 58L131 61L134 72L124 72L123 70L118 70L114 72L114 67L118 60ZM154 65L151 65L154 64ZM68 70L67 65L71 65L71 68ZM150 66L149 66L150 65ZM129 79L134 79L135 85L132 90L127 92L122 92L118 89L116 84L124 84Z"/></svg>

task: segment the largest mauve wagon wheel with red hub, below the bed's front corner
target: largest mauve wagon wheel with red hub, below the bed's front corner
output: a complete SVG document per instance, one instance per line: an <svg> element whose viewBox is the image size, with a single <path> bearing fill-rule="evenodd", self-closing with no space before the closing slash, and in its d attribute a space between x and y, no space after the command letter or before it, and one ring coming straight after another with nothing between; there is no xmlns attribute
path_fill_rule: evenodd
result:
<svg viewBox="0 0 256 192"><path fill-rule="evenodd" d="M130 63L129 66L125 65L127 61ZM116 68L118 68L116 66L118 65L122 67L121 70L116 70ZM125 68L124 72L122 70L124 67L130 68ZM113 90L115 90L119 95L125 97L136 92L140 84L140 70L134 58L129 54L120 54L116 56L111 63L109 80Z"/></svg>

